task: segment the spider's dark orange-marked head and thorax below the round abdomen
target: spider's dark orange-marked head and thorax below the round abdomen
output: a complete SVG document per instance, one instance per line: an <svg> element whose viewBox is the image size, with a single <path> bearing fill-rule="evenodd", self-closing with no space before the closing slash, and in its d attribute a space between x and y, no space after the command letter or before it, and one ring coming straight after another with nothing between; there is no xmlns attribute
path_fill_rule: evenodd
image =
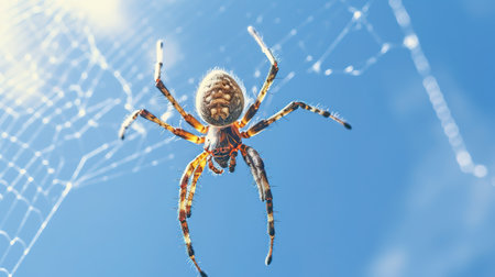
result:
<svg viewBox="0 0 495 277"><path fill-rule="evenodd" d="M235 151L241 144L241 134L237 126L210 126L205 140L205 149L211 153L215 162L227 168L232 151Z"/></svg>

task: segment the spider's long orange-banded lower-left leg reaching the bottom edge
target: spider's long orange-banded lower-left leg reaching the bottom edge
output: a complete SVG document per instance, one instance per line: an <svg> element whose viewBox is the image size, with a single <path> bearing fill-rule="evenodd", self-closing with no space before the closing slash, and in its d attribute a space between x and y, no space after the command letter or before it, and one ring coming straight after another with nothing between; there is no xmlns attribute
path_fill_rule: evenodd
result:
<svg viewBox="0 0 495 277"><path fill-rule="evenodd" d="M186 243L187 247L187 254L189 255L189 258L195 264L196 268L198 269L201 277L207 276L205 272L201 270L198 263L196 262L195 257L195 251L193 250L193 244L189 236L189 226L187 225L187 213L186 213L186 195L187 195L187 184L189 181L189 177L195 171L195 168L199 164L202 163L202 160L208 156L208 152L204 152L199 154L193 162L187 165L186 170L183 174L183 177L180 179L180 192L179 192L179 212L178 212L178 220L180 222L180 228L183 230L184 235L184 242Z"/></svg>

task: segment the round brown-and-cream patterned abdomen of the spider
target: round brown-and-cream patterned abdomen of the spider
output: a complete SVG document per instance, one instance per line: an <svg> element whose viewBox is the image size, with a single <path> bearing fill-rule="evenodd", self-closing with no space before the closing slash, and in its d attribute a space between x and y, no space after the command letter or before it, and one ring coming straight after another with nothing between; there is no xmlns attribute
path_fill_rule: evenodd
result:
<svg viewBox="0 0 495 277"><path fill-rule="evenodd" d="M223 126L233 123L244 108L244 93L228 73L215 69L205 76L196 95L196 109L209 124Z"/></svg>

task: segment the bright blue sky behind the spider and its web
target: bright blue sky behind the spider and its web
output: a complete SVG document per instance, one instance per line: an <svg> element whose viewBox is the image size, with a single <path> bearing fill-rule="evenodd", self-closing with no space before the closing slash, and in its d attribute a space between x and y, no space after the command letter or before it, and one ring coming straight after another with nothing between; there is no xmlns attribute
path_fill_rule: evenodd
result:
<svg viewBox="0 0 495 277"><path fill-rule="evenodd" d="M234 174L206 171L189 220L204 269L210 276L493 276L495 40L490 32L495 4L403 4L474 165L486 168L482 178L461 170L387 1L165 1L144 7L109 1L96 10L41 4L63 14L62 23L45 12L12 30L37 20L55 22L50 43L68 49L57 52L65 59L54 66L44 58L47 51L36 55L36 40L43 41L50 29L22 33L43 34L29 40L32 48L15 52L4 43L2 51L14 57L31 53L40 74L45 68L58 77L35 86L32 98L57 87L66 92L64 101L82 99L88 114L101 117L92 117L95 126L73 121L79 130L91 125L80 138L57 131L65 138L47 143L55 148L46 159L63 165L55 179L69 180L74 188L14 276L196 275L176 207L178 180L200 146L170 138L144 120L123 143L117 131L130 111L144 107L189 128L153 87L158 38L165 41L166 85L186 110L195 112L196 86L216 66L235 73L254 99L253 87L262 85L268 63L246 32L250 24L280 60L278 78L255 119L301 100L340 112L353 130L296 111L244 141L262 155L273 186L276 239L268 267L265 206L249 168L238 159ZM363 23L351 24L363 7L369 7ZM12 10L26 14L33 8ZM77 47L70 47L74 41ZM389 51L381 54L384 45ZM320 70L315 71L318 59ZM75 65L68 66L72 60ZM0 65L0 77L9 77L12 66ZM16 87L3 86L2 101L8 101ZM70 95L79 88L94 93ZM14 133L1 123L9 135ZM35 140L19 137L33 151L52 140L50 132ZM95 152L106 144L108 151ZM147 145L156 147L147 152ZM8 151L2 153L8 157ZM14 179L2 176L7 182ZM7 223L0 230L8 229Z"/></svg>

